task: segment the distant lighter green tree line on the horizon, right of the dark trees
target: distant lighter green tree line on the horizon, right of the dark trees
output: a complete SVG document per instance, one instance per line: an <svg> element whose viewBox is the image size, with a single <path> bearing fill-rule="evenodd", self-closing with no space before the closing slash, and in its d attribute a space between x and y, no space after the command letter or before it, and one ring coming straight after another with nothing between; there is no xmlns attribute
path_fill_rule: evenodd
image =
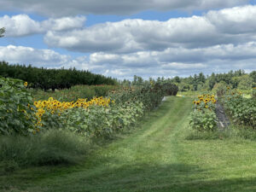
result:
<svg viewBox="0 0 256 192"><path fill-rule="evenodd" d="M172 83L177 84L178 90L212 90L216 84L226 84L233 89L249 90L256 87L256 71L251 73L245 73L243 70L230 71L229 73L212 73L211 75L205 75L203 73L195 74L187 78L174 77L172 79L158 78L144 80L141 77L134 76L133 80L124 79L119 81L119 84L123 85L140 85L144 83Z"/></svg>

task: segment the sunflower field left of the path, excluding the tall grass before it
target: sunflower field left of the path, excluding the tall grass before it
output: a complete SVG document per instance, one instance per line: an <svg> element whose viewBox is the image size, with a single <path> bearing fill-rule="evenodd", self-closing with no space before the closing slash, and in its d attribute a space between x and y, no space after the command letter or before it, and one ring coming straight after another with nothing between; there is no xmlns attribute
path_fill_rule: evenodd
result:
<svg viewBox="0 0 256 192"><path fill-rule="evenodd" d="M62 98L60 101L49 96L38 100L27 85L22 80L0 78L1 135L33 135L55 129L73 131L84 137L105 137L136 125L144 113L157 108L166 95L166 88L161 84L146 84L115 86L111 90L108 87L108 96L91 99L64 101Z"/></svg>

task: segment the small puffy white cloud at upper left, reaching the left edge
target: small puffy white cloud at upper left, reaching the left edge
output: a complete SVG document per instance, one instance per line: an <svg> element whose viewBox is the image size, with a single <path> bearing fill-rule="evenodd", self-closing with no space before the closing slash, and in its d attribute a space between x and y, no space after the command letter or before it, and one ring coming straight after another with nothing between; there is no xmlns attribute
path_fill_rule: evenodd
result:
<svg viewBox="0 0 256 192"><path fill-rule="evenodd" d="M28 15L14 15L0 17L0 26L6 28L6 37L20 37L48 31L66 31L84 26L85 17L62 17L59 19L38 22Z"/></svg>

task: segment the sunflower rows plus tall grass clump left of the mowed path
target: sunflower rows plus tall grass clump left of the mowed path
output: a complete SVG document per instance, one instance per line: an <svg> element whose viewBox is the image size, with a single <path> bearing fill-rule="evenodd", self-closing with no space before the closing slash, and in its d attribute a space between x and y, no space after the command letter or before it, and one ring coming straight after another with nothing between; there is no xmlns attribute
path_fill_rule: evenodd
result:
<svg viewBox="0 0 256 192"><path fill-rule="evenodd" d="M0 162L9 164L11 160L11 166L77 161L73 157L82 158L84 155L85 149L82 150L81 146L86 146L91 140L130 130L145 113L160 105L163 96L177 94L175 84L154 82L131 87L79 85L73 88L77 91L70 90L72 94L67 94L66 101L56 93L67 93L68 90L48 92L47 99L37 100L34 94L38 97L42 91L34 92L27 87L27 82L20 79L0 77L0 87L0 135L4 138L0 141L3 151ZM84 97L88 90L105 96L87 100ZM72 98L76 100L70 101ZM77 138L78 141L72 142ZM15 144L15 140L19 144ZM64 148L69 142L71 147ZM38 150L40 145L42 148ZM52 148L51 154L47 148ZM13 155L15 158L12 159Z"/></svg>

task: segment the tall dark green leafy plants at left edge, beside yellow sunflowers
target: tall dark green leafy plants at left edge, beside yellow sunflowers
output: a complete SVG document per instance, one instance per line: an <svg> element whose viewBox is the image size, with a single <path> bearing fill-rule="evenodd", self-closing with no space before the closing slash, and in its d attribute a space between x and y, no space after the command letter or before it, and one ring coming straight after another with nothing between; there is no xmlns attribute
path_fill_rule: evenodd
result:
<svg viewBox="0 0 256 192"><path fill-rule="evenodd" d="M34 129L36 119L32 96L19 79L5 79L0 76L0 135L27 134Z"/></svg>

